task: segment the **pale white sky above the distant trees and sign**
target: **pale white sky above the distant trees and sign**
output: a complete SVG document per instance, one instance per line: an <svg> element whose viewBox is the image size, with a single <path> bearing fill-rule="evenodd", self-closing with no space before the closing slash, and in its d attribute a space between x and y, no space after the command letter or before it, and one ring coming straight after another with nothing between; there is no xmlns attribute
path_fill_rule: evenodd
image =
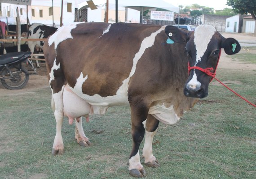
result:
<svg viewBox="0 0 256 179"><path fill-rule="evenodd" d="M227 0L164 0L172 5L179 6L183 5L184 8L187 5L199 4L208 8L213 8L215 10L221 10L225 8L232 9L231 6L226 5Z"/></svg>

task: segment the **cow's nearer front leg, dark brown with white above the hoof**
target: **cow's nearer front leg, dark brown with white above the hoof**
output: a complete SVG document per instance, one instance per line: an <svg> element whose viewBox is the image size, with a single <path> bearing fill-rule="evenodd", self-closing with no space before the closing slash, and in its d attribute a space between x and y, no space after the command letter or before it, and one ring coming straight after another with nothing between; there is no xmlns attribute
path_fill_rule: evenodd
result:
<svg viewBox="0 0 256 179"><path fill-rule="evenodd" d="M135 177L146 176L141 165L139 147L145 134L143 121L146 120L148 110L143 105L131 106L132 117L132 152L129 158L129 173Z"/></svg>

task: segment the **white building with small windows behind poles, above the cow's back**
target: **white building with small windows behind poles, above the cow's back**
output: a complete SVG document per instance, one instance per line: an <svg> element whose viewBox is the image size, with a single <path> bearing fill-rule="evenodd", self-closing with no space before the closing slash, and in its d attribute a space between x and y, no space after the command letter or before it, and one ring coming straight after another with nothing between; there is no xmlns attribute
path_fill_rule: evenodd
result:
<svg viewBox="0 0 256 179"><path fill-rule="evenodd" d="M53 16L49 15L49 8L52 7L53 2ZM63 17L62 23L69 24L75 20L75 13L79 10L79 8L83 8L83 3L85 0L63 0ZM105 7L106 0L93 0L93 2L97 5L96 10L91 10L90 8L85 8L86 17L88 22L100 22L104 21L105 17ZM42 23L45 25L52 26L53 22L55 26L60 26L60 18L61 18L61 5L62 0L32 0L31 6L28 7L28 19L30 23ZM86 3L87 4L87 3ZM71 6L70 6L71 5ZM25 5L17 5L17 4L7 4L1 3L1 20L15 19L17 17L16 9L20 11L20 20L22 24L26 24L26 6ZM68 12L68 8L71 8L71 12ZM119 21L125 21L125 8L119 7ZM140 21L140 12L133 9L128 9L127 21L139 23ZM83 21L83 19L80 19ZM84 20L85 21L85 20ZM109 4L109 22L115 21L115 4ZM15 24L14 21L9 21L9 24Z"/></svg>

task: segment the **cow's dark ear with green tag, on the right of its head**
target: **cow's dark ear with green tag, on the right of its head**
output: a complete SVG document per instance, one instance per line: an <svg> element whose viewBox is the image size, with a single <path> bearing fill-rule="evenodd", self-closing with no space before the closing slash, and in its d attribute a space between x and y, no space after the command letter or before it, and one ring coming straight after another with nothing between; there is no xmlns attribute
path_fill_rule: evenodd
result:
<svg viewBox="0 0 256 179"><path fill-rule="evenodd" d="M225 53L228 55L233 55L241 50L241 46L238 41L234 38L222 38L221 48L224 48Z"/></svg>

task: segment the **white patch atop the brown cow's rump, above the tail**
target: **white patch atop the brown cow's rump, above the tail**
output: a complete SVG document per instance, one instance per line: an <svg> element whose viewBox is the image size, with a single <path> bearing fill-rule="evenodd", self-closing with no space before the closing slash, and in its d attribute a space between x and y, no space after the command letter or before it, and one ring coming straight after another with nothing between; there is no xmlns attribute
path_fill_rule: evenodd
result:
<svg viewBox="0 0 256 179"><path fill-rule="evenodd" d="M56 32L52 36L50 36L48 40L49 46L54 43L54 48L56 50L59 43L61 43L62 41L68 38L73 38L71 35L71 30L75 29L75 27L80 23L83 23L83 22L74 22L69 25L58 28Z"/></svg>

